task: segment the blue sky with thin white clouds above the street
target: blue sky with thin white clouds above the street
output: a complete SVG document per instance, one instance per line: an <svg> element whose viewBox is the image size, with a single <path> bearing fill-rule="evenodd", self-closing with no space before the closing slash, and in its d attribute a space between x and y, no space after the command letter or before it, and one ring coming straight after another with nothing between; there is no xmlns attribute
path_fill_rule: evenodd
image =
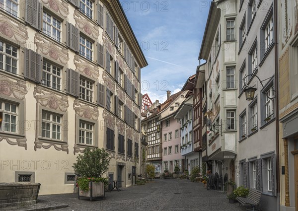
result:
<svg viewBox="0 0 298 211"><path fill-rule="evenodd" d="M199 65L211 0L120 0L148 61L142 93L164 102L179 91Z"/></svg>

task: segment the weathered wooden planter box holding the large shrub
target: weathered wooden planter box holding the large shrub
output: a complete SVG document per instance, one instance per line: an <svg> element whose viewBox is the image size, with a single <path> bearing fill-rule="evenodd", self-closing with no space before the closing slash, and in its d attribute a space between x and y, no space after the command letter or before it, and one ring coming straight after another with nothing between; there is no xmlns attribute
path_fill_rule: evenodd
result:
<svg viewBox="0 0 298 211"><path fill-rule="evenodd" d="M93 199L104 199L105 191L104 191L104 183L103 182L89 182L89 190L81 191L78 188L78 199L86 199L89 198L90 201Z"/></svg>

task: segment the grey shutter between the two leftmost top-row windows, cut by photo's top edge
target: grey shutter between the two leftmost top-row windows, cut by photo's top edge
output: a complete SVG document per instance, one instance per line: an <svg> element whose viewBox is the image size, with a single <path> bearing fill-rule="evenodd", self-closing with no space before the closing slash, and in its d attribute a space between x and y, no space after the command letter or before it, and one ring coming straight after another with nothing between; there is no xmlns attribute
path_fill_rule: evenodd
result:
<svg viewBox="0 0 298 211"><path fill-rule="evenodd" d="M26 0L25 2L25 21L32 27L38 29L38 22L40 14L38 0Z"/></svg>

